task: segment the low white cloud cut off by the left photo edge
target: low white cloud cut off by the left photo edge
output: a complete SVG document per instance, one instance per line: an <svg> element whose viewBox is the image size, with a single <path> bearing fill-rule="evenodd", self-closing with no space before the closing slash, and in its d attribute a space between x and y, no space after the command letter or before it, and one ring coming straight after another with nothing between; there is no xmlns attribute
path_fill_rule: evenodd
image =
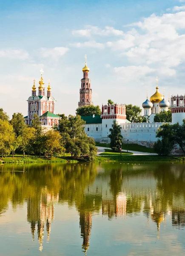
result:
<svg viewBox="0 0 185 256"><path fill-rule="evenodd" d="M29 58L29 54L23 49L0 49L0 58L26 60Z"/></svg>

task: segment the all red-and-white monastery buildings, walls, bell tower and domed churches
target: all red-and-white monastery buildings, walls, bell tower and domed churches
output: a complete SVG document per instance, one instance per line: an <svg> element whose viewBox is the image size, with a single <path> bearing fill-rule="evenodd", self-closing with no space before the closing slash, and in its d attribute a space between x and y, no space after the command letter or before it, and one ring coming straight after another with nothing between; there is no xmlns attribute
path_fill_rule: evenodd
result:
<svg viewBox="0 0 185 256"><path fill-rule="evenodd" d="M86 58L86 55L85 55ZM47 94L45 95L45 87L43 80L43 70L38 86L38 95L35 86L32 87L31 96L28 97L28 116L25 116L25 122L31 125L31 120L36 113L40 117L43 128L49 129L58 124L60 116L55 114L55 99L51 96L50 82L48 81ZM85 61L85 67L82 69L83 78L81 79L80 101L78 107L93 105L91 79L89 79L89 68ZM131 123L126 119L126 107L124 104L102 105L101 116L82 116L86 122L85 132L89 137L93 137L97 142L108 141L109 129L112 127L113 120L122 128L123 141L129 143L137 143L150 146L155 141L156 131L163 123L154 122L154 116L161 111L171 110L172 124L182 123L185 119L185 96L171 96L168 101L165 96L159 93L158 79L156 92L142 103L144 116L148 122Z"/></svg>

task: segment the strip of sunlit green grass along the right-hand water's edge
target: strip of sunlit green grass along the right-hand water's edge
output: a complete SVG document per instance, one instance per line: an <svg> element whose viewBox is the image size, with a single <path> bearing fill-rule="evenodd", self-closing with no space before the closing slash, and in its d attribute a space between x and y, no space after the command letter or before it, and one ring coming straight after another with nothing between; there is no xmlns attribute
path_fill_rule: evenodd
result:
<svg viewBox="0 0 185 256"><path fill-rule="evenodd" d="M97 163L105 163L105 162L154 162L154 161L170 161L170 162L183 162L185 161L185 157L176 157L176 156L157 156L157 155L129 155L129 154L121 154L121 155L102 155L96 158Z"/></svg>

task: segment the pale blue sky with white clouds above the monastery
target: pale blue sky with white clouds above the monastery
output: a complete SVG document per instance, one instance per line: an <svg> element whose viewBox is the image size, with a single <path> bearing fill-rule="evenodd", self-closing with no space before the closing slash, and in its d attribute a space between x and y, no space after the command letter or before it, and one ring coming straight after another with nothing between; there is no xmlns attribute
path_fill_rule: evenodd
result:
<svg viewBox="0 0 185 256"><path fill-rule="evenodd" d="M185 0L0 0L0 108L27 115L33 80L75 114L87 55L94 105L185 93Z"/></svg>

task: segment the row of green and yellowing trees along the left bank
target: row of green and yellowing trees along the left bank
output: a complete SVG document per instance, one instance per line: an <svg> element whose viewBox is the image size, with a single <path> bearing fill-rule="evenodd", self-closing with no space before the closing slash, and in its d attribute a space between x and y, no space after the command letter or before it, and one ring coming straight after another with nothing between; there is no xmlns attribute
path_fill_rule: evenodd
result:
<svg viewBox="0 0 185 256"><path fill-rule="evenodd" d="M51 157L54 154L71 153L72 157L94 160L97 148L93 138L84 131L85 122L80 116L60 115L59 125L44 130L39 116L34 114L31 126L26 125L21 113L14 113L12 119L0 108L0 154L6 157L15 151L23 156L34 154Z"/></svg>

